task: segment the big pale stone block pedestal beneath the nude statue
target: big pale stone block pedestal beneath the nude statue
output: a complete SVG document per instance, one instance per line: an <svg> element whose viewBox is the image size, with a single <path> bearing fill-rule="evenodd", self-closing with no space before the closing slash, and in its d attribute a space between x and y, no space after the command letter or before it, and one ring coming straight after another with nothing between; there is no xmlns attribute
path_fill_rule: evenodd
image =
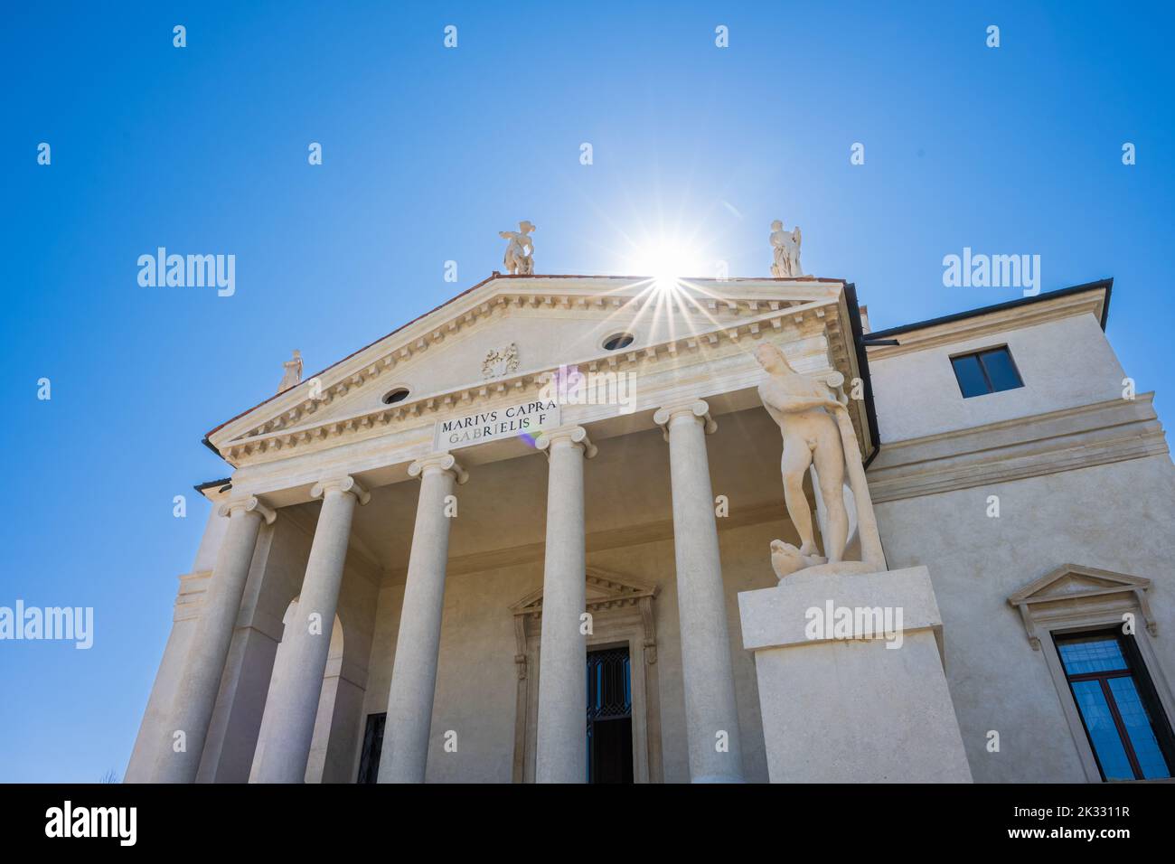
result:
<svg viewBox="0 0 1175 864"><path fill-rule="evenodd" d="M772 783L969 783L925 567L738 596Z"/></svg>

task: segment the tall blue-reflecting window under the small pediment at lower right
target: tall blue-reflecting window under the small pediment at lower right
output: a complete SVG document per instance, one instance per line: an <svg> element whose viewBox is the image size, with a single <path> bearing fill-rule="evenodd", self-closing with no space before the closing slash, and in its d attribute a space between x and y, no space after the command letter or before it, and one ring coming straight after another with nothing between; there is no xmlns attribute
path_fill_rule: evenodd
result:
<svg viewBox="0 0 1175 864"><path fill-rule="evenodd" d="M1170 777L1175 739L1134 636L1115 628L1054 641L1102 779Z"/></svg>

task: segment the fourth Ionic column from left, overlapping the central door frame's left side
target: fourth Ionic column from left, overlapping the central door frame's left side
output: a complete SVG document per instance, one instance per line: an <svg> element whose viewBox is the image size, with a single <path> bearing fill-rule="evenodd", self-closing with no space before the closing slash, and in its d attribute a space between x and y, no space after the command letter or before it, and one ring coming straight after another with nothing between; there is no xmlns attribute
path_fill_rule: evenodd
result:
<svg viewBox="0 0 1175 864"><path fill-rule="evenodd" d="M580 426L544 431L536 442L550 462L543 634L538 667L536 783L584 783L588 772L588 645L584 614L584 458L596 448Z"/></svg>

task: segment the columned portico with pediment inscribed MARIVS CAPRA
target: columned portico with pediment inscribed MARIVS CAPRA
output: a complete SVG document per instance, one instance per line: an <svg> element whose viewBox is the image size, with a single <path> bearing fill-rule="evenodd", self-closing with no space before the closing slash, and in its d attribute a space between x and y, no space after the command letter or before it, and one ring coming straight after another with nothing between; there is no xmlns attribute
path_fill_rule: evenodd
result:
<svg viewBox="0 0 1175 864"><path fill-rule="evenodd" d="M763 552L794 531L770 480L778 433L757 404L753 349L766 340L808 373L855 377L846 302L818 280L666 299L631 280L495 277L214 430L236 470L206 491L229 531L196 621L224 648L192 641L173 710L145 724L133 768L354 781L385 715L381 782L583 782L588 651L625 644L637 779L761 777L733 595L774 582ZM613 331L636 339L604 349ZM499 350L505 334L515 347ZM569 367L631 376L630 403L566 397ZM725 551L724 536L737 538ZM643 600L593 598L592 571ZM511 604L526 596L537 647L519 654L526 616ZM630 623L613 621L625 605ZM177 754L176 731L199 744Z"/></svg>

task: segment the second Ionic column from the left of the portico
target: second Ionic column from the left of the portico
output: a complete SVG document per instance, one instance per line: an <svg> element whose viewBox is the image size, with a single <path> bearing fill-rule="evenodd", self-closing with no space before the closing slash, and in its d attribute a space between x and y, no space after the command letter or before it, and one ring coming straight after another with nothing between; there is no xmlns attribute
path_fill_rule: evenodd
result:
<svg viewBox="0 0 1175 864"><path fill-rule="evenodd" d="M297 601L297 617L282 636L289 655L288 676L266 714L273 717L264 749L258 754L256 783L302 783L310 756L310 739L327 671L330 635L343 584L343 565L351 534L355 504L365 504L371 495L350 476L315 483L310 496L322 498L318 524L314 529L310 558Z"/></svg>

